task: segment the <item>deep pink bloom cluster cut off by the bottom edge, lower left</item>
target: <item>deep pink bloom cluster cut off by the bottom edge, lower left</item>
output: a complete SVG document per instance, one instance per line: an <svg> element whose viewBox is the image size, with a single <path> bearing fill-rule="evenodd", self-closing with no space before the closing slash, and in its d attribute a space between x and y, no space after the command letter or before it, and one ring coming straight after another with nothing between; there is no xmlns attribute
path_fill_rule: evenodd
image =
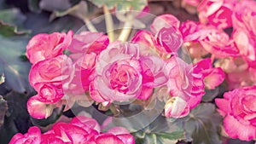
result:
<svg viewBox="0 0 256 144"><path fill-rule="evenodd" d="M24 135L18 133L9 144L134 144L135 140L123 127L113 127L101 132L101 126L93 118L78 116L67 123L55 123L44 134L38 127L32 126Z"/></svg>

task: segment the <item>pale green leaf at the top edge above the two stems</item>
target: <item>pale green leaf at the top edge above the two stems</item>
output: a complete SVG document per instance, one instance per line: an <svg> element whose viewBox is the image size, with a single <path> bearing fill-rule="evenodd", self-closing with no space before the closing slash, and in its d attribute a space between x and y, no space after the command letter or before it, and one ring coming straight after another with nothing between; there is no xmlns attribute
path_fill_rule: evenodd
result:
<svg viewBox="0 0 256 144"><path fill-rule="evenodd" d="M142 10L147 5L147 0L90 0L92 3L95 3L96 6L102 7L107 5L108 9L113 9L114 7L117 10Z"/></svg>

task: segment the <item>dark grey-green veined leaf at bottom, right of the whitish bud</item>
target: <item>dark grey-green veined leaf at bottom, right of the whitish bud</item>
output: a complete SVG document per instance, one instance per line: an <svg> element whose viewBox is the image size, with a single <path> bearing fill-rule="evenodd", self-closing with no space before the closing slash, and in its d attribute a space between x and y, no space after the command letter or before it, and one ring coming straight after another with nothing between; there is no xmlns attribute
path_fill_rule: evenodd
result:
<svg viewBox="0 0 256 144"><path fill-rule="evenodd" d="M196 144L221 144L218 135L218 125L221 121L213 104L200 104L184 118L187 140L193 140Z"/></svg>

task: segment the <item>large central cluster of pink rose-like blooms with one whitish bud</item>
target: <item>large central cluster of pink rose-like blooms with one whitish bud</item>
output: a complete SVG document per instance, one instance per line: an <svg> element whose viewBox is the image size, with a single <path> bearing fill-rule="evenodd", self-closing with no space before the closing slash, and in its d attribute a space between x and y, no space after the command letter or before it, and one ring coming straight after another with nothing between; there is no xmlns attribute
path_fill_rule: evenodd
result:
<svg viewBox="0 0 256 144"><path fill-rule="evenodd" d="M102 32L32 37L27 45L32 62L29 80L38 94L27 102L28 112L33 118L48 118L55 107L66 105L68 110L75 101L95 101L103 107L114 101L147 101L157 88L167 89L162 93L166 117L188 115L200 103L205 93L203 80L214 68L193 66L178 58L183 44L179 26L172 14L160 15L150 31L138 31L131 43L110 43ZM29 56L33 54L40 54L40 59ZM204 63L211 65L209 60ZM214 88L222 81L208 84Z"/></svg>

